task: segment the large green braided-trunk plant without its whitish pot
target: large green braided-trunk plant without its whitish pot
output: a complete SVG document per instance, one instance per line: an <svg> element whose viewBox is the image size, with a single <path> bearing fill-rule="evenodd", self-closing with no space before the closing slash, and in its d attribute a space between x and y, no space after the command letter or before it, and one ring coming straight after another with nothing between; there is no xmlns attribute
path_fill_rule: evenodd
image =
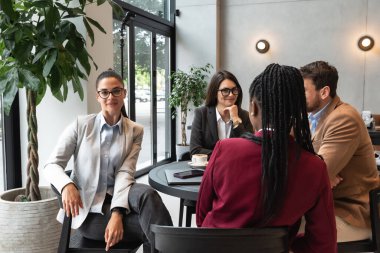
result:
<svg viewBox="0 0 380 253"><path fill-rule="evenodd" d="M0 93L8 114L18 90L26 89L29 200L41 199L36 105L48 88L59 101L65 101L70 85L83 100L81 80L87 79L94 62L75 24L84 24L94 44L92 27L105 30L86 15L85 6L105 2L120 14L112 0L0 0Z"/></svg>

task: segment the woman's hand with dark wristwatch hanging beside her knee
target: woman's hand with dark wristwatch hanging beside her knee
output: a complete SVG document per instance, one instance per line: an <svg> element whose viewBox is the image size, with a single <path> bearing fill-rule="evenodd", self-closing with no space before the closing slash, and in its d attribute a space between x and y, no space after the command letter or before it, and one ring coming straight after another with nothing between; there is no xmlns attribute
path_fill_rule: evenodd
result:
<svg viewBox="0 0 380 253"><path fill-rule="evenodd" d="M114 246L123 239L124 228L123 228L123 214L119 212L112 212L111 218L108 221L106 227L106 232L104 234L104 240L107 243L106 251L110 247Z"/></svg>

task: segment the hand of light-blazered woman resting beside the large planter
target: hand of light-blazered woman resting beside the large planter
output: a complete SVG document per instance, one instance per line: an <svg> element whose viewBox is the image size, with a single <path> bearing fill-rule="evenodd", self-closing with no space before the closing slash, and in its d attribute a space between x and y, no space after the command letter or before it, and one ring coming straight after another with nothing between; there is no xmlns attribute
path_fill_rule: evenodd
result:
<svg viewBox="0 0 380 253"><path fill-rule="evenodd" d="M80 198L77 187L73 184L67 184L62 190L63 210L67 217L79 215L79 208L83 208L82 199Z"/></svg>

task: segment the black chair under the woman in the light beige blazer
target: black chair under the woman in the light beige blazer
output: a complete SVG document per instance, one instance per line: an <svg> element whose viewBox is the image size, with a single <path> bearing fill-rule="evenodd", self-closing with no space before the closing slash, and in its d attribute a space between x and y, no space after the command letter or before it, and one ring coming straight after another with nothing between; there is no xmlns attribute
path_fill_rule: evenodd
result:
<svg viewBox="0 0 380 253"><path fill-rule="evenodd" d="M67 171L66 174L70 175L71 171ZM58 190L51 185L52 190L57 195L58 204L60 208L62 205L62 195ZM61 231L61 239L59 241L58 253L71 253L71 252L88 252L88 253L96 253L96 252L105 252L106 243L104 241L91 240L83 237L79 232L74 233L71 236L71 221L72 218L67 217L63 220L62 231ZM113 246L108 252L111 253L135 253L139 249L141 243L123 243L119 242L115 246Z"/></svg>

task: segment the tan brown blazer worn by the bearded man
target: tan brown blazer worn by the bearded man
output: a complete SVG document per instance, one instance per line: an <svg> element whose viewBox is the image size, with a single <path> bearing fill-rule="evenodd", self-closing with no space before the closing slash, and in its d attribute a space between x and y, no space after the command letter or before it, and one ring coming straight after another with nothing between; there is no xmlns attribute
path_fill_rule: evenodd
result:
<svg viewBox="0 0 380 253"><path fill-rule="evenodd" d="M312 136L314 150L326 162L330 178L343 181L333 189L335 215L357 227L370 227L369 197L379 175L367 128L358 111L336 96Z"/></svg>

